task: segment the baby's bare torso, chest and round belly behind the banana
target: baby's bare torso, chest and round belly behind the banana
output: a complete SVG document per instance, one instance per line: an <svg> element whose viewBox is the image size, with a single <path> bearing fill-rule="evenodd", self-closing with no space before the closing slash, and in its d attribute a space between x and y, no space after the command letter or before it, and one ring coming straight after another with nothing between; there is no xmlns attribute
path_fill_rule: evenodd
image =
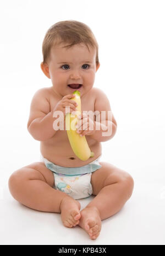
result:
<svg viewBox="0 0 165 256"><path fill-rule="evenodd" d="M45 88L46 97L50 103L50 111L54 109L56 104L59 102L58 96L53 92L52 88ZM92 88L87 95L81 98L81 111L95 111L95 94L92 92L95 88ZM53 126L53 124L52 124ZM87 161L81 161L77 156L75 156L67 135L67 131L58 130L53 137L48 140L41 141L40 150L44 158L63 167L80 167L94 161L101 155L101 143L86 136L86 141L90 147L90 150L95 153L94 157L87 159Z"/></svg>

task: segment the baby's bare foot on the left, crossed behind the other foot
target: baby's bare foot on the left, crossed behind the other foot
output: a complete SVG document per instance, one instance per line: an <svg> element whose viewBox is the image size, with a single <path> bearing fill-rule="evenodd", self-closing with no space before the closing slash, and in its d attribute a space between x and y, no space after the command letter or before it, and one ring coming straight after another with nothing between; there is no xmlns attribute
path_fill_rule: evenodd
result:
<svg viewBox="0 0 165 256"><path fill-rule="evenodd" d="M65 227L75 227L79 224L80 203L70 196L65 196L61 202L61 219Z"/></svg>

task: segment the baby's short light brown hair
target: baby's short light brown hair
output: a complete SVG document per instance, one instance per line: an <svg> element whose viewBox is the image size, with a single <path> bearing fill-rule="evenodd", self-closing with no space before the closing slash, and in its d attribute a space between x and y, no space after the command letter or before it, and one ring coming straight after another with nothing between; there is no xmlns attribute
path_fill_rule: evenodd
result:
<svg viewBox="0 0 165 256"><path fill-rule="evenodd" d="M45 38L42 43L43 63L46 63L50 57L51 47L61 44L62 42L68 43L64 47L72 47L76 44L85 44L89 49L89 45L92 49L96 49L96 67L98 64L98 44L94 34L89 26L76 20L64 20L57 22L47 30Z"/></svg>

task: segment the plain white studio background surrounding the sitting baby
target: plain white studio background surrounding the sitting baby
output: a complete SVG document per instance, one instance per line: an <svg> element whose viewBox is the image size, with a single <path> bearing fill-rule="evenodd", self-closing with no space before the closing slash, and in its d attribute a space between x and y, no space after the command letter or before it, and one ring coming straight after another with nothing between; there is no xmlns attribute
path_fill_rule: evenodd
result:
<svg viewBox="0 0 165 256"><path fill-rule="evenodd" d="M159 0L1 1L0 243L164 244L164 13ZM8 191L14 170L40 158L40 142L26 125L32 96L52 85L40 69L42 41L61 20L84 22L96 36L101 66L94 87L106 92L118 123L112 140L102 142L101 161L135 181L131 199L102 222L96 241L79 227L63 227L59 214L20 205Z"/></svg>

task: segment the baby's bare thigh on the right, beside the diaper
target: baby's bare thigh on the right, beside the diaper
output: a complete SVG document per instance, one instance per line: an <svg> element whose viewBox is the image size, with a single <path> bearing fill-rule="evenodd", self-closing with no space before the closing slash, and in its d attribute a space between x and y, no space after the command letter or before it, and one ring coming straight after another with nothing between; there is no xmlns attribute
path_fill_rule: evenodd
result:
<svg viewBox="0 0 165 256"><path fill-rule="evenodd" d="M107 162L99 163L102 167L97 169L91 175L93 195L97 195L104 186L118 183L126 179L131 179L129 173L113 166L113 164Z"/></svg>

